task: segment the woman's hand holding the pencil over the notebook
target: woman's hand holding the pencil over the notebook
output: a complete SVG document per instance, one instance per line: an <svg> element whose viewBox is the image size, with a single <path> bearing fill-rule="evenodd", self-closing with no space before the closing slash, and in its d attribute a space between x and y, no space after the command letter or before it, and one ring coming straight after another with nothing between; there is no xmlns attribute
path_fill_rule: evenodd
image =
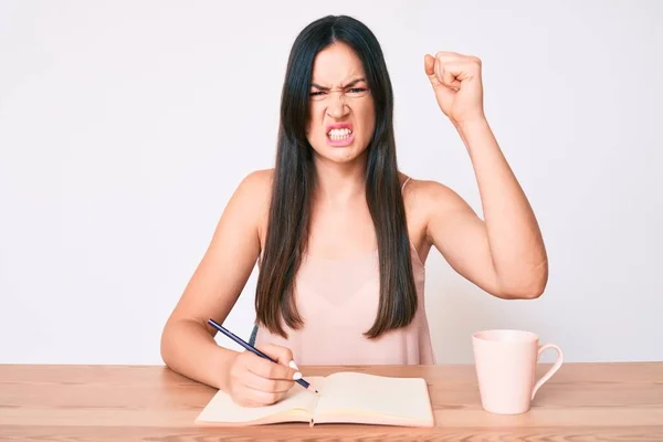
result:
<svg viewBox="0 0 663 442"><path fill-rule="evenodd" d="M302 378L293 360L292 351L275 345L256 346L259 350L276 360L272 362L252 351L235 355L227 378L227 392L243 407L262 407L278 402Z"/></svg>

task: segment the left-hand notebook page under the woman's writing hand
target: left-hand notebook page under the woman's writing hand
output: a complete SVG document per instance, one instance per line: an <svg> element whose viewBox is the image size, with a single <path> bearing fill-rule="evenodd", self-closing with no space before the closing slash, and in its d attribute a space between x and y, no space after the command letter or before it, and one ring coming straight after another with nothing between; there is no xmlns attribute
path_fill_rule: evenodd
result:
<svg viewBox="0 0 663 442"><path fill-rule="evenodd" d="M325 378L307 377L314 388L322 388ZM318 394L295 383L278 402L265 407L241 407L223 390L217 391L196 419L197 423L252 424L269 422L308 422Z"/></svg>

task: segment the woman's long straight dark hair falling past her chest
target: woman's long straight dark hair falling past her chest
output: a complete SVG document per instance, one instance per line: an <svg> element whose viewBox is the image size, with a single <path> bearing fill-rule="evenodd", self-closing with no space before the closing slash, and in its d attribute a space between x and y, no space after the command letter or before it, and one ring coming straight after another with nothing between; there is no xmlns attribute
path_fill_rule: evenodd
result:
<svg viewBox="0 0 663 442"><path fill-rule="evenodd" d="M309 87L315 55L334 42L344 42L364 64L376 108L373 136L367 148L366 201L376 230L380 302L368 338L407 326L418 307L410 240L400 191L393 136L393 93L382 50L360 21L328 15L308 24L295 39L281 98L275 173L264 253L255 296L256 323L287 337L304 319L295 305L295 276L307 248L316 172L313 148L306 139Z"/></svg>

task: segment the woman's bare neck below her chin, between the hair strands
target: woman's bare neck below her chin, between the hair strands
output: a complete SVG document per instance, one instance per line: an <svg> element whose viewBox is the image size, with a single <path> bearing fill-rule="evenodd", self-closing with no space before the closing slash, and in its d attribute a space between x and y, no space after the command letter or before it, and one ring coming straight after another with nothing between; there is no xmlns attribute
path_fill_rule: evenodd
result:
<svg viewBox="0 0 663 442"><path fill-rule="evenodd" d="M366 194L366 161L362 155L356 161L338 164L315 159L316 199L325 203L347 203Z"/></svg>

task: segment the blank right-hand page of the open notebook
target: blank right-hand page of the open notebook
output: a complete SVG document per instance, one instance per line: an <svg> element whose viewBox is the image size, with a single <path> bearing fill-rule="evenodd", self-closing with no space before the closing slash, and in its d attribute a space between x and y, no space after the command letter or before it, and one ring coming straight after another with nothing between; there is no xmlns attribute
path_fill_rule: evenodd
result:
<svg viewBox="0 0 663 442"><path fill-rule="evenodd" d="M327 377L314 412L316 423L351 419L354 422L432 424L432 407L425 380L358 372Z"/></svg>

